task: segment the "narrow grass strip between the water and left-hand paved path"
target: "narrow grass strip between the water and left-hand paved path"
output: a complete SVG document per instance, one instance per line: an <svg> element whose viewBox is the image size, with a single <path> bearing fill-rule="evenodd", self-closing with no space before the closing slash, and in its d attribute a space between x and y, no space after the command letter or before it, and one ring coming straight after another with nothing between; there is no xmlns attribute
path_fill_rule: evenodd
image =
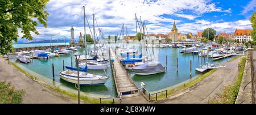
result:
<svg viewBox="0 0 256 115"><path fill-rule="evenodd" d="M25 74L26 76L29 76L30 78L36 80L36 76L33 76L31 74L28 74L26 71L24 71L23 69L21 69L18 65L16 65L15 63L13 62L10 62L11 65L13 65L16 69L18 69L19 71L21 71L23 74ZM36 80L36 82L38 82ZM39 82L38 82L39 83ZM67 95L67 96L70 96L70 97L73 97L75 99L78 99L78 96L76 93L71 93L71 92L68 92L68 91L65 91L65 90L61 90L61 88L59 87L55 87L55 86L51 86L49 84L46 84L46 83L40 83L42 84L43 86L47 87L47 88L50 88L51 90L53 91L56 91L56 92L60 92L60 93L63 93L64 95ZM80 95L80 99L82 101L84 101L85 103L100 103L100 99L96 99L96 98L89 98L88 96L81 96ZM108 100L104 100L104 103L112 103L112 101L108 101Z"/></svg>

